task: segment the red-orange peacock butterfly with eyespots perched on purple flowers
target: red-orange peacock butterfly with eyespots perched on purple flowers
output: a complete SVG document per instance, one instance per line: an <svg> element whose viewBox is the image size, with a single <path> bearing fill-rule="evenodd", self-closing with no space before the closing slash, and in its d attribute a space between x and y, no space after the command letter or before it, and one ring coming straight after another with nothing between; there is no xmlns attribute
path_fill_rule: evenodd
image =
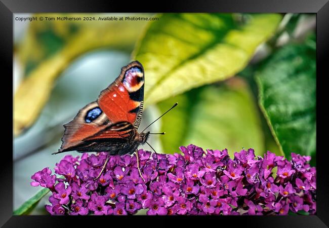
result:
<svg viewBox="0 0 329 228"><path fill-rule="evenodd" d="M140 62L133 61L122 67L120 75L101 91L98 99L81 108L74 119L64 125L62 145L53 154L76 150L125 155L133 154L139 145L147 143L152 133L143 133L146 128L141 133L137 131L143 115L144 81L144 68ZM138 153L136 156L139 169ZM99 176L108 159L109 156ZM140 169L139 173L141 175Z"/></svg>

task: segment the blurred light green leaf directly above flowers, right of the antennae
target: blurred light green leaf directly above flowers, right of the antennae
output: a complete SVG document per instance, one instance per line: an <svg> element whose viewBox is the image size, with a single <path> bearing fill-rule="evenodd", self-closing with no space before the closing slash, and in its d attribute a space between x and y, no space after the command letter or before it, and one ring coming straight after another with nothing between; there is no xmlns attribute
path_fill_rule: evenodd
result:
<svg viewBox="0 0 329 228"><path fill-rule="evenodd" d="M222 86L205 86L158 104L163 112L177 107L162 120L160 137L164 153L195 144L204 149L227 148L230 156L242 147L264 153L264 138L256 102L248 85L233 78ZM170 131L169 131L170 129Z"/></svg>

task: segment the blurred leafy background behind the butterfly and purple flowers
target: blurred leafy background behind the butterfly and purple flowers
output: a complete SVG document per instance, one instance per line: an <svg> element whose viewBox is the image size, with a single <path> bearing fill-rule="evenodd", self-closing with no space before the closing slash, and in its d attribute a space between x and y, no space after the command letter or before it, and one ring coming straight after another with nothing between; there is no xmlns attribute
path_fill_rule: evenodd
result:
<svg viewBox="0 0 329 228"><path fill-rule="evenodd" d="M44 20L19 19L29 17ZM315 166L315 26L315 14L15 14L14 209L41 189L31 175L66 155L51 155L62 125L135 59L145 68L140 129L179 103L151 126L167 133L150 137L158 153L254 148ZM47 214L47 201L31 214Z"/></svg>

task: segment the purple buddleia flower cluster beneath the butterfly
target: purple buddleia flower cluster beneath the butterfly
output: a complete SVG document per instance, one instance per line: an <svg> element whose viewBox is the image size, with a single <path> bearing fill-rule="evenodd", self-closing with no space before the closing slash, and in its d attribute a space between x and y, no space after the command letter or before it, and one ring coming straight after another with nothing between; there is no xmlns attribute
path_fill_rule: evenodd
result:
<svg viewBox="0 0 329 228"><path fill-rule="evenodd" d="M148 209L148 215L286 215L289 211L316 213L316 169L310 157L292 154L292 161L267 151L241 150L229 158L227 149L181 146L183 154L138 151L111 156L94 180L106 153L66 155L55 173L45 168L31 178L32 186L51 189L50 214L127 215ZM62 177L62 178L61 178Z"/></svg>

